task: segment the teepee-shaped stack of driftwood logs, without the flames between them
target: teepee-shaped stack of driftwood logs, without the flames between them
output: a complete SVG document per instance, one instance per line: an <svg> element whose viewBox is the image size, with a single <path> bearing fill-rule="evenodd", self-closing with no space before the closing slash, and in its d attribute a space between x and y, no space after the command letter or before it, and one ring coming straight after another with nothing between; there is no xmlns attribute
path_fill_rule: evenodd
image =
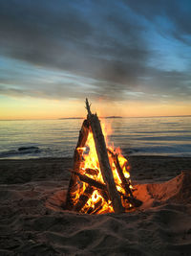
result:
<svg viewBox="0 0 191 256"><path fill-rule="evenodd" d="M96 114L92 114L88 100L86 99L86 108L88 111L87 119L84 120L82 127L79 131L78 142L74 150L74 167L71 170L71 180L68 188L67 200L65 208L68 210L74 210L80 212L80 210L87 203L88 199L92 196L95 190L99 190L103 199L110 199L115 213L122 213L125 211L124 206L121 203L121 197L126 198L132 206L138 207L141 202L133 197L132 191L130 189L129 180L123 175L123 171L120 167L117 154L106 148L106 143L104 135L100 126L100 121ZM95 179L89 177L88 175L82 174L80 170L80 163L83 161L83 151L79 149L85 147L89 132L92 131L95 140L96 154L99 162L99 168L101 175L103 177L104 183L96 181ZM113 161L117 168L117 174L120 177L121 185L125 191L125 195L117 191L117 186L113 176L113 172L110 166L110 161L108 154L113 158ZM88 169L87 172L96 172L96 170ZM77 202L73 201L73 196L79 182L86 183L86 189L77 199ZM99 203L100 204L100 203ZM92 212L96 213L101 205L96 205ZM91 209L89 210L91 213ZM89 213L87 212L87 213Z"/></svg>

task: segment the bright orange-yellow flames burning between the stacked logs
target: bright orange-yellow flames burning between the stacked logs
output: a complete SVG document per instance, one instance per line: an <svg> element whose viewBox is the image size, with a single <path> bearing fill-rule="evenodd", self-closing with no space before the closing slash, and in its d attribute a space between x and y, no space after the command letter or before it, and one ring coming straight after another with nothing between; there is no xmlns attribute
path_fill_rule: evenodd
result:
<svg viewBox="0 0 191 256"><path fill-rule="evenodd" d="M122 186L122 180L117 173L117 167L115 164L114 157L117 155L117 159L119 165L123 171L123 174L127 181L131 182L130 174L129 174L129 165L127 159L122 155L121 150L119 148L115 149L114 145L109 143L108 136L112 134L111 126L106 126L106 123L101 122L101 128L105 137L106 147L108 149L108 157L110 161L110 166L114 175L115 183L117 186L117 191L121 197L121 202L126 211L130 210L132 205L127 200L127 197L123 197L126 193L124 190L124 186ZM90 130L86 145L83 148L77 148L77 151L82 152L83 161L80 162L80 173L82 175L86 175L102 184L104 184L103 177L101 175L99 161L96 154L96 145L93 136L93 132ZM82 195L87 189L88 184L85 182L78 181L77 190L73 192L73 202L76 203L77 199ZM132 185L130 185L132 188ZM93 194L88 198L86 204L81 209L82 213L94 213L94 214L103 214L108 212L114 212L112 202L107 197L107 193L104 194L103 191L95 189Z"/></svg>

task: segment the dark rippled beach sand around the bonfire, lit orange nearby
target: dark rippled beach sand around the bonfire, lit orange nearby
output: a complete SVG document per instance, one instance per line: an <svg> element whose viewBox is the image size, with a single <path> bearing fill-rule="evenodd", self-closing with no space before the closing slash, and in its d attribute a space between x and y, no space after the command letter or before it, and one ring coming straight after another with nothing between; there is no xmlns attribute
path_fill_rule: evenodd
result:
<svg viewBox="0 0 191 256"><path fill-rule="evenodd" d="M191 255L191 158L129 158L135 212L63 211L72 159L0 160L0 255Z"/></svg>

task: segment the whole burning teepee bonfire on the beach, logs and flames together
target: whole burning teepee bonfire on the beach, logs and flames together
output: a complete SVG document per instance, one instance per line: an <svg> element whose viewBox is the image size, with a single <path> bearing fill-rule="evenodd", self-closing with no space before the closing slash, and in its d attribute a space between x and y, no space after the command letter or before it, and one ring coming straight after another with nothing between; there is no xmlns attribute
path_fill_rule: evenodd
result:
<svg viewBox="0 0 191 256"><path fill-rule="evenodd" d="M128 161L120 149L108 146L105 127L88 111L74 151L74 170L66 208L87 214L122 213L141 204L134 198Z"/></svg>

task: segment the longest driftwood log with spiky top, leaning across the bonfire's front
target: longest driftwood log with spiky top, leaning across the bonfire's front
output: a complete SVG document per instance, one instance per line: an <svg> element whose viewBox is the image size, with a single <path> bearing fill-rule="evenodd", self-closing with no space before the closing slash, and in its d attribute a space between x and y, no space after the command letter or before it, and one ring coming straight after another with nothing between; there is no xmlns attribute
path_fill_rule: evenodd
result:
<svg viewBox="0 0 191 256"><path fill-rule="evenodd" d="M110 167L105 139L102 133L100 122L96 114L95 115L92 114L90 110L90 105L87 99L86 99L86 108L88 110L87 119L93 131L93 136L94 136L95 145L96 145L96 153L99 161L101 175L103 176L103 180L107 186L107 191L110 196L110 199L112 200L114 211L116 213L122 213L124 212L124 208L121 204L120 197L117 193L117 187L116 187L114 176Z"/></svg>

